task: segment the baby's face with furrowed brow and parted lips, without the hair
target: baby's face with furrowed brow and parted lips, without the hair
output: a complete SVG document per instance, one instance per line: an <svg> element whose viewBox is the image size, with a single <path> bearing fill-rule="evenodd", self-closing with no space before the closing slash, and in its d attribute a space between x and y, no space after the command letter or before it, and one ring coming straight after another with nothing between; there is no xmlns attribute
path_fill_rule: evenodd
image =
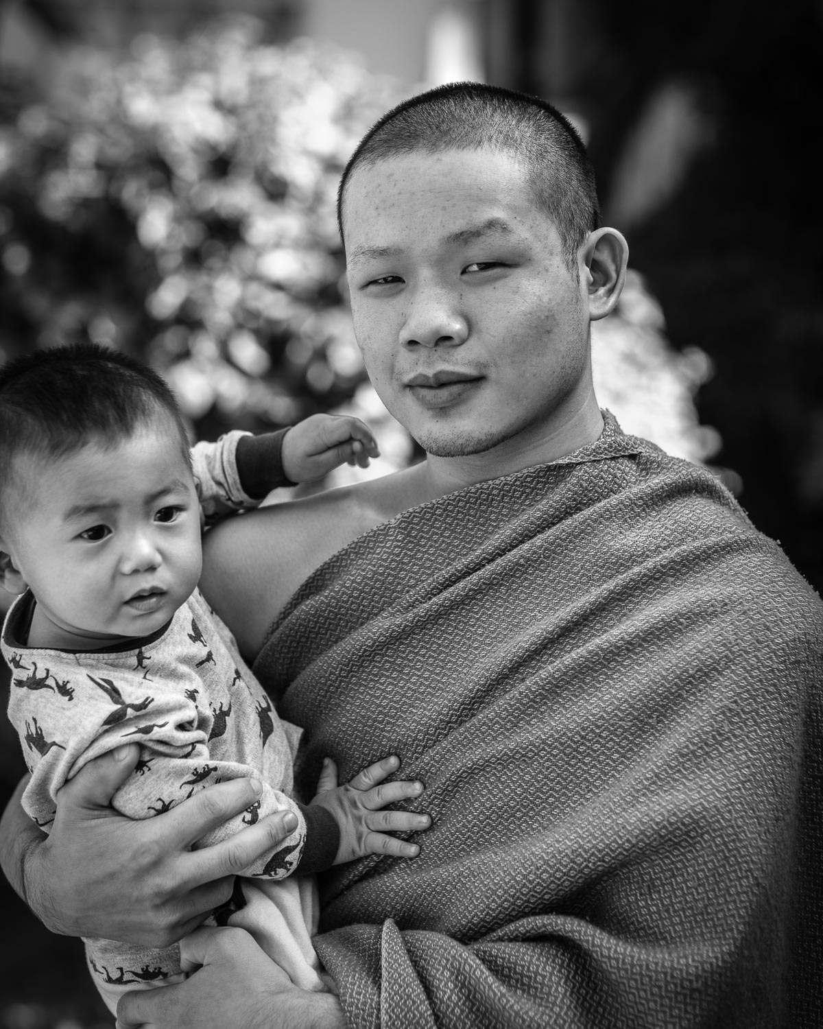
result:
<svg viewBox="0 0 823 1029"><path fill-rule="evenodd" d="M47 619L39 645L95 649L165 625L202 560L194 481L172 420L26 470L9 549L38 627Z"/></svg>

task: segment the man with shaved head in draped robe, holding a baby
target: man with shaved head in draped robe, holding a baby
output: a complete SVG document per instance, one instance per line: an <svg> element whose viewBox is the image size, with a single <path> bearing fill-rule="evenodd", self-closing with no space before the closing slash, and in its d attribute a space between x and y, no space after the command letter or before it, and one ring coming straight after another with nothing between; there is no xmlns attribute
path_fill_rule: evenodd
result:
<svg viewBox="0 0 823 1029"><path fill-rule="evenodd" d="M57 931L183 936L190 978L121 1026L819 1027L823 606L709 471L600 410L589 325L628 250L579 138L534 98L430 91L360 143L339 216L366 368L426 459L223 523L202 584L306 730L300 791L323 755L345 780L399 754L420 856L321 880L336 995L195 928L285 836L188 850L245 781L131 823L124 748L47 840L12 802L6 874Z"/></svg>

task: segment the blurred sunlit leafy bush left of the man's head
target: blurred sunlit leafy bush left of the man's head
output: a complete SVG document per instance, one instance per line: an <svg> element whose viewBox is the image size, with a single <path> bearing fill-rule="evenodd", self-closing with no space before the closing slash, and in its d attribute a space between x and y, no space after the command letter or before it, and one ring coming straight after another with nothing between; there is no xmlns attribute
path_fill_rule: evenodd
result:
<svg viewBox="0 0 823 1029"><path fill-rule="evenodd" d="M363 378L336 183L397 83L232 20L69 51L0 127L0 360L93 340L163 371L201 434L284 424Z"/></svg>

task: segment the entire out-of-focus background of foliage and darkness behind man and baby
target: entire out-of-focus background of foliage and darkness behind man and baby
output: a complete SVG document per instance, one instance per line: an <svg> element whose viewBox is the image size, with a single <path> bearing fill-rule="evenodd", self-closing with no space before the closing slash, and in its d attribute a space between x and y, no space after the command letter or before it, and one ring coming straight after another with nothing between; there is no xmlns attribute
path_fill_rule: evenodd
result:
<svg viewBox="0 0 823 1029"><path fill-rule="evenodd" d="M602 402L708 462L820 590L822 40L820 0L0 0L0 362L95 340L167 375L192 435L348 407L401 465L336 180L420 86L525 90L577 125L632 249ZM78 947L0 902L0 1029L108 1024Z"/></svg>

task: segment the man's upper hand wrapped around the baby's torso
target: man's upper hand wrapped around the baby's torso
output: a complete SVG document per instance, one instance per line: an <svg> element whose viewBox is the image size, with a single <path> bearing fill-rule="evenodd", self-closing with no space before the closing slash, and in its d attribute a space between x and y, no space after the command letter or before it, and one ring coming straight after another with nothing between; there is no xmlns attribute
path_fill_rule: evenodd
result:
<svg viewBox="0 0 823 1029"><path fill-rule="evenodd" d="M3 870L52 932L167 947L228 899L241 868L296 827L294 815L281 812L191 850L204 833L253 804L259 783L219 783L165 814L133 821L110 801L139 756L132 744L84 766L58 793L48 837L20 806L23 784L6 809Z"/></svg>

